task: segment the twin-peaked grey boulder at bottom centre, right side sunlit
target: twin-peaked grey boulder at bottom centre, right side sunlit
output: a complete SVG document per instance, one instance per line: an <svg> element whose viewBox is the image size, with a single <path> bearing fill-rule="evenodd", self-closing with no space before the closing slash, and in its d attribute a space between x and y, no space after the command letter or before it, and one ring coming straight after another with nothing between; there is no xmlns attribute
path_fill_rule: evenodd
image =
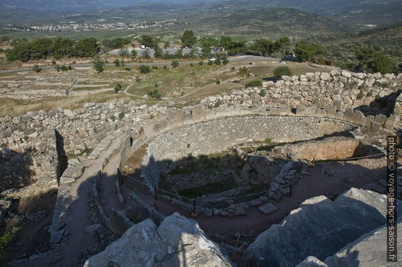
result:
<svg viewBox="0 0 402 267"><path fill-rule="evenodd" d="M221 248L192 220L174 213L159 227L147 219L132 226L84 267L232 266Z"/></svg>

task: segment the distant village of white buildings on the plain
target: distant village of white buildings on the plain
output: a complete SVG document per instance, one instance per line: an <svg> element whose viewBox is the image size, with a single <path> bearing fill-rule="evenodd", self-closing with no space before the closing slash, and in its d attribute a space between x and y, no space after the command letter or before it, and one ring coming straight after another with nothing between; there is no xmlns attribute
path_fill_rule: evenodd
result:
<svg viewBox="0 0 402 267"><path fill-rule="evenodd" d="M117 18L116 18L117 19ZM119 18L121 19L121 18ZM5 30L11 31L33 31L33 32L60 32L60 31L93 31L93 30L134 30L134 29L147 29L147 28L162 28L167 25L181 24L176 19L166 20L166 21L154 21L154 22L139 22L139 23L124 23L124 22L113 22L113 23L102 23L104 19L98 20L97 23L84 23L79 24L75 21L70 22L60 22L60 24L52 25L7 25L4 27Z"/></svg>

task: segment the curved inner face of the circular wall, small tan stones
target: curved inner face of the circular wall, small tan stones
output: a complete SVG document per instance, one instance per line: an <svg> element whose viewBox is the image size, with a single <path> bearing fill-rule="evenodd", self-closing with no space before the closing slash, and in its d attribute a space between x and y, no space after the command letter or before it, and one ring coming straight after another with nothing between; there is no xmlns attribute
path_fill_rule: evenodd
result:
<svg viewBox="0 0 402 267"><path fill-rule="evenodd" d="M309 140L334 133L347 133L356 126L317 117L246 115L185 125L154 137L143 160L143 177L152 186L169 165L189 153L220 152L231 146L270 138L273 142Z"/></svg>

